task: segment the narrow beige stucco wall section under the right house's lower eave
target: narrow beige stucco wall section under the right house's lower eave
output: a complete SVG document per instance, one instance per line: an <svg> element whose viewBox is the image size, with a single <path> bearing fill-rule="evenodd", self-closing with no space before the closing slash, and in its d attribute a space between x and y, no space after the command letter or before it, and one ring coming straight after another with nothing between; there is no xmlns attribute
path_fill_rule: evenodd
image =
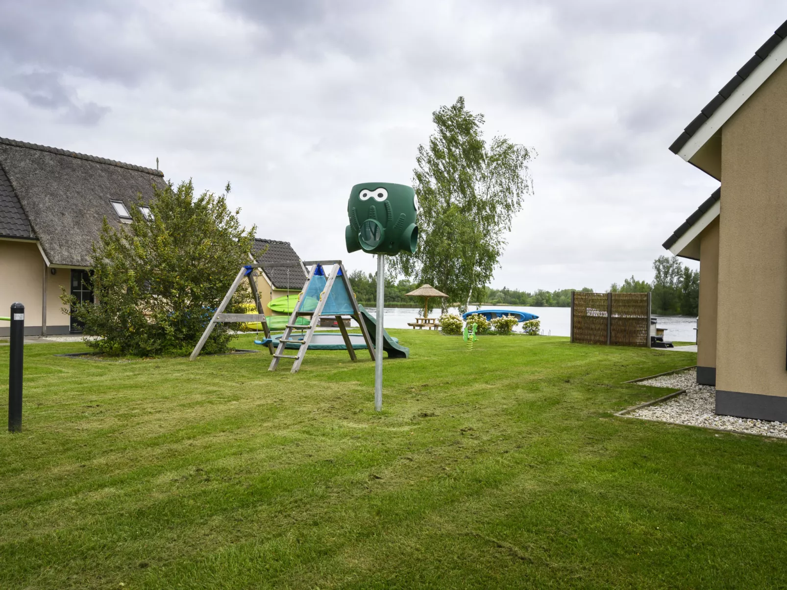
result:
<svg viewBox="0 0 787 590"><path fill-rule="evenodd" d="M700 310L696 322L696 363L716 366L716 322L719 293L719 219L700 234Z"/></svg>

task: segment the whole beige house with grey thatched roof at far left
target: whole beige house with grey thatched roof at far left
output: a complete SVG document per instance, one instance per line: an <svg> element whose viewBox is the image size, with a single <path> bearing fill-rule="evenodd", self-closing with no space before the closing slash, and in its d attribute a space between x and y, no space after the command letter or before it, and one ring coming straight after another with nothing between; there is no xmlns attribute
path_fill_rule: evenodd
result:
<svg viewBox="0 0 787 590"><path fill-rule="evenodd" d="M154 183L164 185L161 171L0 138L0 312L23 303L26 334L79 329L61 312L61 287L92 299L84 278L104 218L130 221Z"/></svg>

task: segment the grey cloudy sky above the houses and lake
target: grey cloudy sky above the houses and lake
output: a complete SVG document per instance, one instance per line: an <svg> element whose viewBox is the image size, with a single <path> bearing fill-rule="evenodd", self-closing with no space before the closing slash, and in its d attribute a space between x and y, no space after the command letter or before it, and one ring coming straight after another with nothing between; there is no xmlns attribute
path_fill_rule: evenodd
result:
<svg viewBox="0 0 787 590"><path fill-rule="evenodd" d="M155 167L264 238L347 254L349 188L410 183L464 96L538 152L493 286L652 278L717 183L667 149L787 18L780 2L0 0L0 136ZM294 223L294 225L290 225Z"/></svg>

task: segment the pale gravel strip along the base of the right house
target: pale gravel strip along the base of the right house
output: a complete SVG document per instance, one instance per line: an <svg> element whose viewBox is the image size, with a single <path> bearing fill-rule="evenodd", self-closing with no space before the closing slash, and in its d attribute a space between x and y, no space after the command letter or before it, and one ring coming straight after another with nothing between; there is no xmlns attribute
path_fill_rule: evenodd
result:
<svg viewBox="0 0 787 590"><path fill-rule="evenodd" d="M695 369L648 379L639 382L639 385L685 389L686 393L672 397L662 404L641 407L631 412L630 416L672 424L709 426L733 432L787 438L787 422L767 422L715 415L716 389L711 385L697 385Z"/></svg>

